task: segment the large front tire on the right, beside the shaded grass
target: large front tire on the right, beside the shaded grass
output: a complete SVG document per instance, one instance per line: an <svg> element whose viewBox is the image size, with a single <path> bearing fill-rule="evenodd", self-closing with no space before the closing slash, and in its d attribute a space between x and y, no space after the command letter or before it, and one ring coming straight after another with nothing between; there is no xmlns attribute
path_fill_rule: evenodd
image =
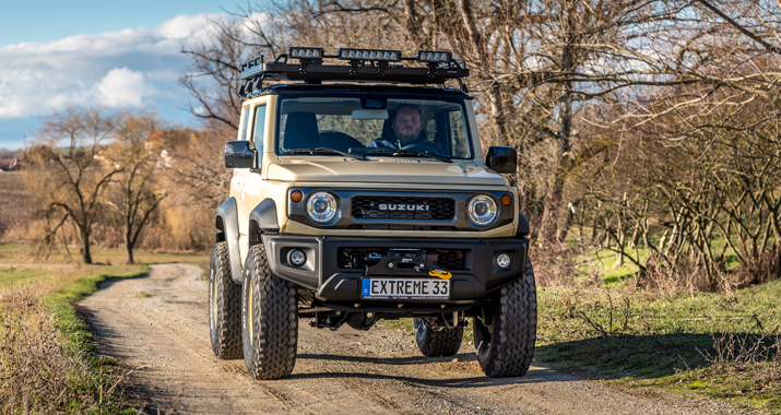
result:
<svg viewBox="0 0 781 415"><path fill-rule="evenodd" d="M526 261L523 276L501 288L484 305L488 318L474 318L474 344L477 361L486 376L523 376L534 355L537 328L537 300L534 270ZM490 324L486 325L484 320Z"/></svg>

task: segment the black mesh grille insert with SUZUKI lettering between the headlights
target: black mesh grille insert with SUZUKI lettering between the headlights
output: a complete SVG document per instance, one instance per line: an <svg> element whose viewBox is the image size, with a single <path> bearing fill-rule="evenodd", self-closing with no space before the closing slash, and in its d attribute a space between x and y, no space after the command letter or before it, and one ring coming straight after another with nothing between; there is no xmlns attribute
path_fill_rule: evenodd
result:
<svg viewBox="0 0 781 415"><path fill-rule="evenodd" d="M450 221L455 201L450 198L400 198L357 195L352 215L360 220Z"/></svg>

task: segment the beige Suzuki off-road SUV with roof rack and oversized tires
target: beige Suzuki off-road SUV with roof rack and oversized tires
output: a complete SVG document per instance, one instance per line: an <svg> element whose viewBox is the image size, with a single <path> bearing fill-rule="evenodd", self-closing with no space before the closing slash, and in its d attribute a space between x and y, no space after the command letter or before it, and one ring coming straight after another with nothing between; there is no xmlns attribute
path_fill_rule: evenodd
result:
<svg viewBox="0 0 781 415"><path fill-rule="evenodd" d="M242 64L209 278L217 357L289 376L301 318L331 330L412 318L425 356L451 356L472 318L484 372L526 372L529 222L499 175L517 154L483 154L468 75L448 51L291 48Z"/></svg>

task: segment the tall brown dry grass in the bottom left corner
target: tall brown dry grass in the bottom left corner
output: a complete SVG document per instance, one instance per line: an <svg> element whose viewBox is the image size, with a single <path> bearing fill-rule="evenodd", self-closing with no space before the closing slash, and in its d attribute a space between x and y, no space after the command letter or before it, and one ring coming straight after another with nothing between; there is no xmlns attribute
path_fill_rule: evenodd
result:
<svg viewBox="0 0 781 415"><path fill-rule="evenodd" d="M96 374L57 330L29 284L0 293L0 411L110 413L119 377Z"/></svg>

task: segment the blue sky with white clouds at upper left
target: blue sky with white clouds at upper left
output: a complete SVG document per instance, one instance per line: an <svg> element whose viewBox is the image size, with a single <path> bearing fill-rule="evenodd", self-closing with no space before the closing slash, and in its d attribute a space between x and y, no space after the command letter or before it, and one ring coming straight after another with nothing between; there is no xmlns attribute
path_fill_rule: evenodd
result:
<svg viewBox="0 0 781 415"><path fill-rule="evenodd" d="M0 149L23 149L69 105L145 107L197 126L178 84L181 44L236 10L236 0L0 1Z"/></svg>

